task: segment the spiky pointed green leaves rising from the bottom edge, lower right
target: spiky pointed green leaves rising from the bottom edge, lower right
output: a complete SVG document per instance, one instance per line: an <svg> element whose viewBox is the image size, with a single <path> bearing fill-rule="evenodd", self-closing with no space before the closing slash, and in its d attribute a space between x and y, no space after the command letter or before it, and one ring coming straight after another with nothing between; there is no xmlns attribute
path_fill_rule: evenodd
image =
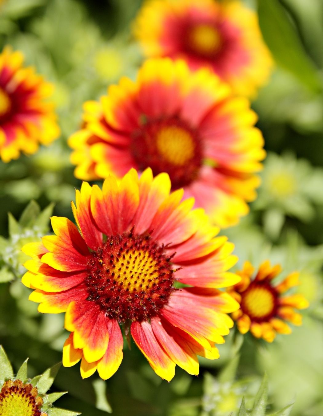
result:
<svg viewBox="0 0 323 416"><path fill-rule="evenodd" d="M262 383L260 384L259 390L254 399L254 405L252 410L247 410L245 406L245 398L242 399L240 410L238 416L266 416L267 408L267 399L268 399L268 377L267 374L264 375ZM284 409L278 410L275 413L267 414L267 416L289 416L293 404L285 406Z"/></svg>

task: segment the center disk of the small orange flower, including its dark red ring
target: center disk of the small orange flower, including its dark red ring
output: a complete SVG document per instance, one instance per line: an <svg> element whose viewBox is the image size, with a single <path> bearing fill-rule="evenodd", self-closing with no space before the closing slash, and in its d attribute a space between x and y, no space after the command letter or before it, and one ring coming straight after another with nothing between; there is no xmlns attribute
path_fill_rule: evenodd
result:
<svg viewBox="0 0 323 416"><path fill-rule="evenodd" d="M242 292L241 309L254 320L266 320L274 315L276 298L273 289L262 284L251 284Z"/></svg>

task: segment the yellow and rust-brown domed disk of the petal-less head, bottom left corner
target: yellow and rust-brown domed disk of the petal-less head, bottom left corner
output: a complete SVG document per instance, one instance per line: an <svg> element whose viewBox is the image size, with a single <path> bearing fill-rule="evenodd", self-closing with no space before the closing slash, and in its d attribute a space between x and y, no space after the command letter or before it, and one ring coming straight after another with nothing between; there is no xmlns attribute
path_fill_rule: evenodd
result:
<svg viewBox="0 0 323 416"><path fill-rule="evenodd" d="M43 401L38 396L37 388L23 384L20 380L9 380L0 393L1 416L41 416L39 407Z"/></svg>

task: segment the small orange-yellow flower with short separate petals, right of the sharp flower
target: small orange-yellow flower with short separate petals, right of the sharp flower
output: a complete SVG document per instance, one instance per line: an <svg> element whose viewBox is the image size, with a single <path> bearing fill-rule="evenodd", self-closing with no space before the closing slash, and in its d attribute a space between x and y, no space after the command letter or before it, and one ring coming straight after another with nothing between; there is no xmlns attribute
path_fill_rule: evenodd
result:
<svg viewBox="0 0 323 416"><path fill-rule="evenodd" d="M308 307L308 301L300 294L286 295L291 287L299 284L299 272L290 273L281 283L274 285L272 280L281 272L281 266L271 266L263 262L254 279L254 267L245 262L241 271L241 281L228 289L228 292L240 303L240 309L231 314L237 321L242 334L250 330L256 338L272 342L276 333L290 334L291 328L285 321L301 325L301 314L295 310Z"/></svg>

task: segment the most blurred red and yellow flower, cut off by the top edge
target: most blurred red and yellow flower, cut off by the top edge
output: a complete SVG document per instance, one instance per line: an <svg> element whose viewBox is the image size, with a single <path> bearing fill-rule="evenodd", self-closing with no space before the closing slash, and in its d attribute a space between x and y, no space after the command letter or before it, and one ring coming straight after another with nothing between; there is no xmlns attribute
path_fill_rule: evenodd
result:
<svg viewBox="0 0 323 416"><path fill-rule="evenodd" d="M272 67L257 15L240 1L146 1L134 31L147 56L210 67L239 95L253 96Z"/></svg>

